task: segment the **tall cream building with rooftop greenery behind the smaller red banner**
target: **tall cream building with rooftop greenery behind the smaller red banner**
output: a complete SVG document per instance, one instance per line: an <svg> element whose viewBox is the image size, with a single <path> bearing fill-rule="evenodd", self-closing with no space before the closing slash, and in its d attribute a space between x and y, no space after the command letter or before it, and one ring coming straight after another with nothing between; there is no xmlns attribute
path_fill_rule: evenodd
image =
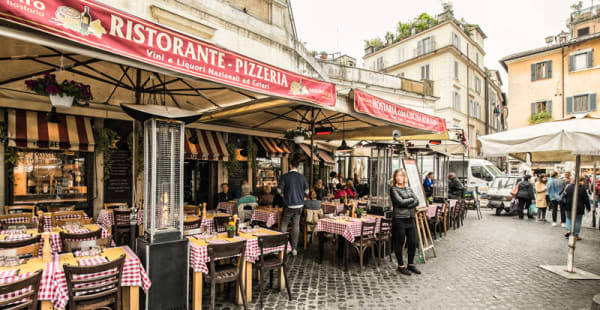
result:
<svg viewBox="0 0 600 310"><path fill-rule="evenodd" d="M433 95L440 98L436 116L449 127L462 128L469 136L470 156L477 156L477 136L502 130L504 111L501 81L488 78L484 66L485 39L481 28L465 26L454 18L451 8L445 8L428 29L413 31L378 50L368 48L363 59L371 70L431 81ZM495 109L490 104L499 105L498 113L491 113Z"/></svg>

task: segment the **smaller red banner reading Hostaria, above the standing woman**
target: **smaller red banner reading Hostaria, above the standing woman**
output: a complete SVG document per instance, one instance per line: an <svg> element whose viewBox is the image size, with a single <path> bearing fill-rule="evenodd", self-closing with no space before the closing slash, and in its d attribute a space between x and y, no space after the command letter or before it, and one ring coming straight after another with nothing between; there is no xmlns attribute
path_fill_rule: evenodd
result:
<svg viewBox="0 0 600 310"><path fill-rule="evenodd" d="M442 118L405 108L359 89L354 89L354 110L402 126L437 132L446 131L446 120Z"/></svg>

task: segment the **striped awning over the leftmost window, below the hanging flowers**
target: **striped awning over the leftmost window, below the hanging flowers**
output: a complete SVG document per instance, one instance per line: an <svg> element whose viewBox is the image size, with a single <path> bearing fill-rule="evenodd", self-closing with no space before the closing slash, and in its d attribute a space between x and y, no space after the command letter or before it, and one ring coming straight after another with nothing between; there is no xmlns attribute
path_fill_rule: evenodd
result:
<svg viewBox="0 0 600 310"><path fill-rule="evenodd" d="M8 110L8 146L44 149L94 151L90 118L58 114L60 123L48 123L46 112Z"/></svg>

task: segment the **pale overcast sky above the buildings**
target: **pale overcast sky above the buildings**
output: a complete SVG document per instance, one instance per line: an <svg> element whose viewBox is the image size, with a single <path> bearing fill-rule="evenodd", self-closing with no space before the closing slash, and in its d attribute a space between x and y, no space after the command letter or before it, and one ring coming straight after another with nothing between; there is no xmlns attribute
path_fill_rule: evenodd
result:
<svg viewBox="0 0 600 310"><path fill-rule="evenodd" d="M362 67L365 39L396 31L398 21L422 12L437 15L440 0L291 0L300 41L309 50L341 52ZM544 38L566 30L571 0L454 0L454 16L479 24L487 35L485 65L507 76L498 60L545 45ZM583 1L583 7L591 0ZM600 1L596 0L595 4Z"/></svg>

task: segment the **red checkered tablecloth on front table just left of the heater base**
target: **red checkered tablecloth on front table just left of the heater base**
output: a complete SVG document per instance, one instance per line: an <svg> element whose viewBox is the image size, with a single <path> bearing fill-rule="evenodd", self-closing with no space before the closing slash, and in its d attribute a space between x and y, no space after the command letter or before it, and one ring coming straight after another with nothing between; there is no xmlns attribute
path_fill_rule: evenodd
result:
<svg viewBox="0 0 600 310"><path fill-rule="evenodd" d="M148 291L150 288L150 279L144 270L139 258L135 256L133 251L127 246L122 247L127 253L127 258L123 264L123 276L121 279L121 286L138 286L144 291ZM79 260L81 261L81 260ZM89 261L88 263L98 263L100 261ZM105 262L105 261L103 261ZM102 262L100 262L102 263ZM64 309L69 302L67 279L65 277L65 271L60 265L60 256L55 255L53 257L54 264L54 276L52 279L52 285L54 294L52 296L52 303L57 309Z"/></svg>

